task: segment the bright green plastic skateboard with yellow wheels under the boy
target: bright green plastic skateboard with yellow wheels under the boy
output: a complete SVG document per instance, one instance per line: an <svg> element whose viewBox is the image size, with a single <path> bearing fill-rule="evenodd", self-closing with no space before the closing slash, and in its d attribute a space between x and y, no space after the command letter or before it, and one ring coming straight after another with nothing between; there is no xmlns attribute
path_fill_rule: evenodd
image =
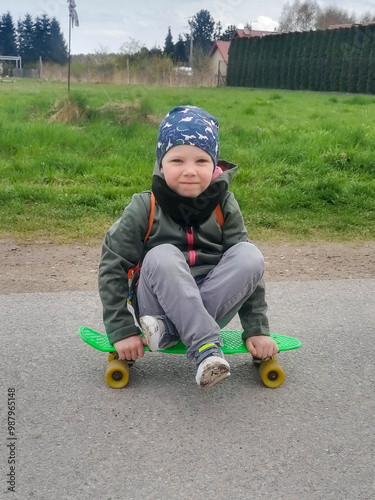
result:
<svg viewBox="0 0 375 500"><path fill-rule="evenodd" d="M221 331L221 337L224 342L222 351L224 354L248 353L248 350L242 341L241 333L242 332L238 330ZM117 358L116 350L113 345L109 343L107 335L98 333L86 326L81 326L79 328L79 335L84 342L91 345L95 349L103 352L109 352L108 368L105 375L107 384L114 389L121 389L122 387L125 387L129 381L129 366L133 364L133 362L123 361ZM278 335L276 333L271 333L271 337L278 345L279 351L290 351L301 347L301 342L294 337ZM147 347L145 347L145 350L148 351ZM159 352L169 354L185 354L186 347L180 341L173 347ZM267 387L271 388L279 387L285 379L285 374L280 364L276 361L275 356L273 356L272 359L267 359L261 362L259 366L259 373L263 383Z"/></svg>

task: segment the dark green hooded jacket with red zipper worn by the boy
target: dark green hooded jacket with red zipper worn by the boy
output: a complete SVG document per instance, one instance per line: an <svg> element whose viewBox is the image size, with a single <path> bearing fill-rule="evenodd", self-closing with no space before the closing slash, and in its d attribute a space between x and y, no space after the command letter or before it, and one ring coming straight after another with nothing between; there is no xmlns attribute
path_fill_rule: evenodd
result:
<svg viewBox="0 0 375 500"><path fill-rule="evenodd" d="M219 162L228 186L237 166ZM155 165L154 174L162 176ZM217 182L217 177L212 184ZM179 248L190 265L186 230L175 223L156 203L154 223L144 244L151 211L151 192L143 191L132 197L123 215L108 230L102 247L99 266L99 295L103 304L103 320L109 341L113 344L132 335L140 334L133 315L127 308L129 295L128 271L142 262L149 250L162 243L170 243ZM238 203L230 191L221 202L224 225L220 227L213 212L200 226L192 228L194 235L195 261L190 265L193 276L207 274L215 267L223 253L241 241L249 241ZM231 279L228 276L228 279ZM239 317L243 327L243 338L269 335L267 304L263 279L254 293L242 305Z"/></svg>

